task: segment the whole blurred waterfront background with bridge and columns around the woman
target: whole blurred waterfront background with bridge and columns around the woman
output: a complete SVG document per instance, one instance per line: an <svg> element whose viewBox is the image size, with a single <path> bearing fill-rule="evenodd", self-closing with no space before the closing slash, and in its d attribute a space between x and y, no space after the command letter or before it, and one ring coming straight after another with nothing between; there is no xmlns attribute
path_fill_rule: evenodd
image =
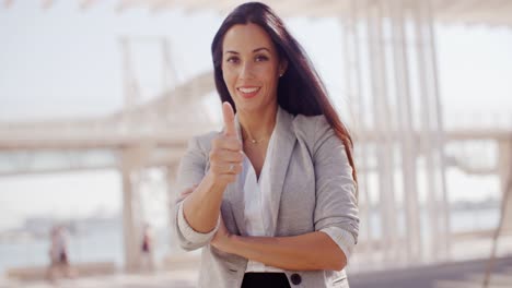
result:
<svg viewBox="0 0 512 288"><path fill-rule="evenodd" d="M242 2L0 2L0 287L55 284L56 227L61 287L194 287L175 173L221 128L210 45ZM264 2L356 140L351 287L481 287L489 263L512 287L512 1Z"/></svg>

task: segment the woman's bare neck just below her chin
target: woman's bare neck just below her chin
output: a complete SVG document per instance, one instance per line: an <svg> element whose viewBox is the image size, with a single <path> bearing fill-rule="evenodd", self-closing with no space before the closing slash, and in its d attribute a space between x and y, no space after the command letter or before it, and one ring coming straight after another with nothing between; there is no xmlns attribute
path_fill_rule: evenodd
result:
<svg viewBox="0 0 512 288"><path fill-rule="evenodd" d="M258 112L237 111L241 128L251 141L268 140L276 125L277 104Z"/></svg>

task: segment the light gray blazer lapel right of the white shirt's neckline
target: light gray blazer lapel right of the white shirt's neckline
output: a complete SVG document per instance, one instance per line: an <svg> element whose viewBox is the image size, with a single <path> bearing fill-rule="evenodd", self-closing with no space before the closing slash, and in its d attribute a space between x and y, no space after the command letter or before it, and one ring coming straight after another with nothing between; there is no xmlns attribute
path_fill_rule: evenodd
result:
<svg viewBox="0 0 512 288"><path fill-rule="evenodd" d="M270 181L270 213L271 213L271 236L276 235L277 219L279 215L279 205L281 202L282 188L287 177L288 166L290 164L296 136L292 132L293 116L288 113L281 107L278 107L275 129L275 143L270 157L269 181Z"/></svg>

